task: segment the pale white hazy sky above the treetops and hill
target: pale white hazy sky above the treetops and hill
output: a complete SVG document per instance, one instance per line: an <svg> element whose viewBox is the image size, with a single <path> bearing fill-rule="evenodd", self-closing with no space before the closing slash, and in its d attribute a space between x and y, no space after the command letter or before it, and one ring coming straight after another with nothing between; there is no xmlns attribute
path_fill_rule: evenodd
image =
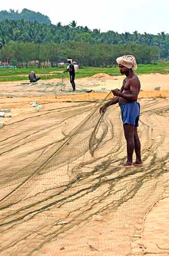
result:
<svg viewBox="0 0 169 256"><path fill-rule="evenodd" d="M53 24L113 30L118 33L169 33L169 0L2 0L0 10L27 8L50 17Z"/></svg>

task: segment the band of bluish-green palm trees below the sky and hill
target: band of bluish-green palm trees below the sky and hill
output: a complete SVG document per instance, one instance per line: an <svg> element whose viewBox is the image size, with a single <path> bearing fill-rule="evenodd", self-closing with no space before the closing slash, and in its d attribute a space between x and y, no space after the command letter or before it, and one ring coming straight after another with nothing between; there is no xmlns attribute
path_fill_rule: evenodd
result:
<svg viewBox="0 0 169 256"><path fill-rule="evenodd" d="M9 41L34 42L36 44L46 44L55 42L64 44L66 41L87 42L90 45L130 45L136 43L160 49L160 57L169 57L169 34L164 32L153 34L133 33L119 34L114 31L101 33L98 29L90 30L87 26L77 26L75 20L69 25L62 26L42 24L37 21L27 20L2 20L0 22L0 44L3 46Z"/></svg>

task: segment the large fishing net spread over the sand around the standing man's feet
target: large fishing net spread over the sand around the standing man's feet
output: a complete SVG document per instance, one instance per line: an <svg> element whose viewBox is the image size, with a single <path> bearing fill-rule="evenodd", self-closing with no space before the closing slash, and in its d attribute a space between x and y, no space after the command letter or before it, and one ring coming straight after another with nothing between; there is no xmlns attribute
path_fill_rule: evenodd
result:
<svg viewBox="0 0 169 256"><path fill-rule="evenodd" d="M119 108L100 115L104 101L67 103L4 127L0 155L8 163L0 172L0 255L130 253L135 225L168 186L168 101L142 102L146 167L133 169L121 167L126 143ZM94 216L104 218L104 244L95 244L98 234L89 243L91 226L98 226ZM74 248L62 252L70 240Z"/></svg>

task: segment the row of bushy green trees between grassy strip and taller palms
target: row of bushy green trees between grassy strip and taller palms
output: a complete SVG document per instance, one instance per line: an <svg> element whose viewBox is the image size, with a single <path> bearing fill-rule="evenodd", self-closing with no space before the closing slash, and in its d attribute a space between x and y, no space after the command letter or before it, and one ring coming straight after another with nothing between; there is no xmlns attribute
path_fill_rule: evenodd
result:
<svg viewBox="0 0 169 256"><path fill-rule="evenodd" d="M89 44L86 41L43 43L9 41L0 50L1 60L17 67L55 67L71 56L82 66L107 67L124 54L134 54L138 63L151 63L159 58L159 49L134 42L131 44Z"/></svg>

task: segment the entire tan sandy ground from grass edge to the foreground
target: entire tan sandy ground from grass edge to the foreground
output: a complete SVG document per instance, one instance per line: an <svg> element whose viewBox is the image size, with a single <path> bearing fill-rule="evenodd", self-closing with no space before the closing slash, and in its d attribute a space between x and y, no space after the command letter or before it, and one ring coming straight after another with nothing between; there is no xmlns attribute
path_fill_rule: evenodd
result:
<svg viewBox="0 0 169 256"><path fill-rule="evenodd" d="M122 168L126 143L118 106L106 111L105 137L96 138L93 156L80 157L82 165L80 160L60 165L57 156L64 161L64 153L67 159L87 145L91 131L85 134L85 124L55 156L55 147L110 89L120 87L123 77L77 79L77 93L61 92L57 79L1 83L0 109L11 109L12 118L0 118L5 122L0 128L0 255L168 255L168 78L140 76L144 165L129 169ZM161 90L154 91L158 86ZM81 92L102 88L108 92ZM66 81L65 90L70 89ZM34 101L42 110L35 110ZM97 111L93 125L98 118ZM45 157L52 161L34 175Z"/></svg>

